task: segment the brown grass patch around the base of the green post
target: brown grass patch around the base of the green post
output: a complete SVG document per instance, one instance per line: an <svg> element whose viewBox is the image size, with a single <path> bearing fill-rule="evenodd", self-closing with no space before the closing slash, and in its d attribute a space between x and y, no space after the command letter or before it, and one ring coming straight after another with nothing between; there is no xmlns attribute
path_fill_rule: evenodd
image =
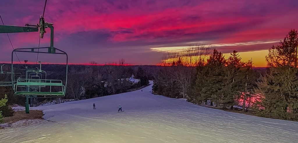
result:
<svg viewBox="0 0 298 143"><path fill-rule="evenodd" d="M29 114L25 111L17 111L13 113L11 117L4 117L4 123L14 123L24 119L42 119L44 113L41 110L30 110Z"/></svg>

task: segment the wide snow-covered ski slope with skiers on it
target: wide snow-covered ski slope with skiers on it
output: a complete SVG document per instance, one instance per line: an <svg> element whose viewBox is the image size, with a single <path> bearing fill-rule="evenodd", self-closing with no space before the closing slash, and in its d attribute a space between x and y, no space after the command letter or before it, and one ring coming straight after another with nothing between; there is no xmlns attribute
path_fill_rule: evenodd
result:
<svg viewBox="0 0 298 143"><path fill-rule="evenodd" d="M0 142L298 142L298 122L206 108L151 90L31 108L52 122L1 129ZM125 112L117 113L119 104Z"/></svg>

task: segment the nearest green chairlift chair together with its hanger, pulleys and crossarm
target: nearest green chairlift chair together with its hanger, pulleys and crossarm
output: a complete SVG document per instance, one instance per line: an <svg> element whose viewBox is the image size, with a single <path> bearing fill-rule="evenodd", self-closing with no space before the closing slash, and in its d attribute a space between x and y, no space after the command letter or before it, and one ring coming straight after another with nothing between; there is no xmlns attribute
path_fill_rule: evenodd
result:
<svg viewBox="0 0 298 143"><path fill-rule="evenodd" d="M49 47L38 47L38 48L22 48L22 49L14 49L11 55L11 84L8 84L6 81L0 83L0 85L10 85L14 90L15 95L22 95L26 96L26 113L29 113L29 96L30 97L38 97L43 96L51 97L51 96L65 96L66 93L66 86L67 86L67 71L68 71L68 55L66 52L59 50L54 47L54 27L52 23L48 23L44 21L43 17L39 18L39 24L32 25L26 24L25 27L23 26L11 26L11 25L0 25L0 33L17 33L17 32L40 32L40 38L43 38L45 33L45 28L50 28L51 30L51 41ZM37 51L35 51L37 50ZM46 51L40 51L46 50ZM61 54L66 55L66 78L64 84L62 80L47 80L47 79L25 79L18 78L15 81L15 73L13 71L13 54L14 52L31 52L31 53L44 53L44 54ZM59 71L60 72L60 71ZM27 73L26 73L27 74ZM26 75L27 76L27 75ZM38 73L36 77L38 77ZM43 90L41 90L43 87ZM48 87L48 88L47 88ZM54 91L52 91L52 88ZM60 91L57 90L61 89ZM21 90L20 90L21 88ZM25 88L25 90L23 90ZM49 89L49 90L48 90Z"/></svg>

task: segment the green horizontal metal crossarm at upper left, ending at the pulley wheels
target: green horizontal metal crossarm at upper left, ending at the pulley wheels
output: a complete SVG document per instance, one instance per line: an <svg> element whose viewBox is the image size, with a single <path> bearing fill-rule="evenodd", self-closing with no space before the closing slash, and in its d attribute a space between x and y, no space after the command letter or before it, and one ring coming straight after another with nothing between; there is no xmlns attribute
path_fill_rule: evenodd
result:
<svg viewBox="0 0 298 143"><path fill-rule="evenodd" d="M38 32L38 27L30 26L12 26L12 25L0 25L0 33L18 33L18 32Z"/></svg>

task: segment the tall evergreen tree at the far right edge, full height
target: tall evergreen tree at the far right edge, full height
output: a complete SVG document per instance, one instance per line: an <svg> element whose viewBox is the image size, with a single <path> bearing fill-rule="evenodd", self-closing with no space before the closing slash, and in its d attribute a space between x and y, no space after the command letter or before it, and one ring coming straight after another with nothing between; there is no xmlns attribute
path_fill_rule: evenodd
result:
<svg viewBox="0 0 298 143"><path fill-rule="evenodd" d="M298 36L291 30L277 46L272 46L266 56L271 67L258 83L258 90L265 97L262 116L298 120Z"/></svg>

